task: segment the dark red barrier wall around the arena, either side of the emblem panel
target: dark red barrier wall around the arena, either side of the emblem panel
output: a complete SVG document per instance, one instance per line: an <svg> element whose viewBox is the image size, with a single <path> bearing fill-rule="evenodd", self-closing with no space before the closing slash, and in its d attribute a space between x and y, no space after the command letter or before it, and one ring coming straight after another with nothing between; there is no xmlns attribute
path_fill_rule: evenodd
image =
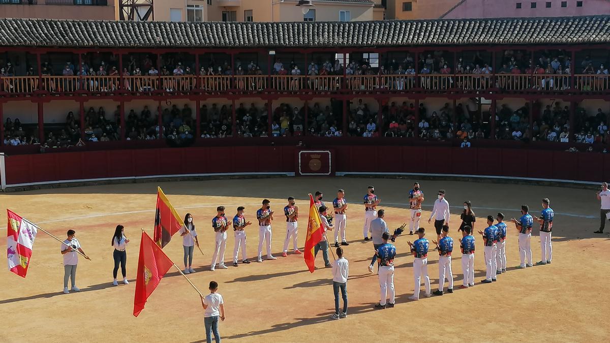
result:
<svg viewBox="0 0 610 343"><path fill-rule="evenodd" d="M336 171L610 180L610 154L449 146L335 145ZM296 146L210 146L5 157L7 184L199 173L293 172Z"/></svg>

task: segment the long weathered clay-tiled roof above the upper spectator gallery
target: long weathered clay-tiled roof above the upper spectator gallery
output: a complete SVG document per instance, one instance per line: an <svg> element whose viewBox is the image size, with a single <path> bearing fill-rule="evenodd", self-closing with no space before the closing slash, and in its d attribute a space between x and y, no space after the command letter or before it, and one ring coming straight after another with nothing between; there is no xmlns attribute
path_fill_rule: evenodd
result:
<svg viewBox="0 0 610 343"><path fill-rule="evenodd" d="M610 16L168 23L1 19L0 46L250 48L610 43Z"/></svg>

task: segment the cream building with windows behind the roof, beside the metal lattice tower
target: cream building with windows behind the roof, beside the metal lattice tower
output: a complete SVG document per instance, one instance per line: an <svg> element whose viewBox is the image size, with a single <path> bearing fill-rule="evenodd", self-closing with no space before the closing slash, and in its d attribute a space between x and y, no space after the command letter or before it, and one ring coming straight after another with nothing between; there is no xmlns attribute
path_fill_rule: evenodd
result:
<svg viewBox="0 0 610 343"><path fill-rule="evenodd" d="M135 2L148 4L150 0ZM382 0L314 0L314 7L310 7L305 14L302 10L304 7L297 4L298 0L153 0L154 18L148 20L269 22L384 19ZM138 10L143 17L146 6Z"/></svg>

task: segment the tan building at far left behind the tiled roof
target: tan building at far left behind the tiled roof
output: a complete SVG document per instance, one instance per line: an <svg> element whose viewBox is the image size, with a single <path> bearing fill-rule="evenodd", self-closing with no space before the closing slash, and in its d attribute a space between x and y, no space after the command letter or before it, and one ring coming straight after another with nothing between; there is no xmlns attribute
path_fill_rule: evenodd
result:
<svg viewBox="0 0 610 343"><path fill-rule="evenodd" d="M0 0L0 18L115 20L117 0Z"/></svg>

